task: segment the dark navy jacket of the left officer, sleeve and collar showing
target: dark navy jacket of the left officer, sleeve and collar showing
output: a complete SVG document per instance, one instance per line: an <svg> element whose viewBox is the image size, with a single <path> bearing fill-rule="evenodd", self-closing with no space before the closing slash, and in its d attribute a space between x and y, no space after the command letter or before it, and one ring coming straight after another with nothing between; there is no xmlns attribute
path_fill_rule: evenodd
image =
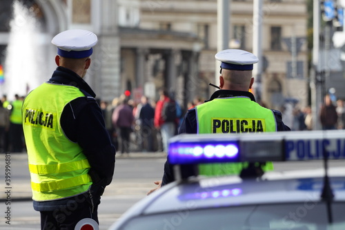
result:
<svg viewBox="0 0 345 230"><path fill-rule="evenodd" d="M61 128L66 137L77 142L86 155L91 166L89 175L92 178L92 203L99 204L104 188L112 181L115 169L115 147L110 142L106 131L101 108L95 100L95 93L79 75L67 68L57 67L50 83L75 86L86 97L78 97L63 108ZM46 202L34 201L36 211L54 211L61 205L70 202L91 202L88 194L79 198L66 198Z"/></svg>

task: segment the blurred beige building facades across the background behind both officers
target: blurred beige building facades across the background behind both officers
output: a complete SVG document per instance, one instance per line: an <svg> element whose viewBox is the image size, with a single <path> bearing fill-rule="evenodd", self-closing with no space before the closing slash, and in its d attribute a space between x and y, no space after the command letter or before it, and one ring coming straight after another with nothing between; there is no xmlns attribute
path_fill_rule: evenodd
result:
<svg viewBox="0 0 345 230"><path fill-rule="evenodd" d="M12 0L3 0L10 10ZM7 2L7 4L5 3ZM125 90L133 99L158 99L167 88L186 107L215 88L217 0L46 0L21 1L41 23L44 73L55 69L54 35L70 28L92 30L99 44L86 81L97 97L111 101ZM253 1L229 1L229 48L253 50ZM3 15L10 18L12 15ZM264 0L262 6L262 101L278 108L286 99L302 106L308 97L305 0ZM0 32L1 64L8 55L11 26ZM51 60L51 61L50 61ZM6 66L4 66L6 79ZM48 76L47 76L48 75ZM5 82L7 79L5 80ZM30 84L27 83L27 85ZM1 86L1 93L6 93ZM27 87L28 88L28 87ZM29 86L34 88L34 86ZM20 92L18 92L20 93Z"/></svg>

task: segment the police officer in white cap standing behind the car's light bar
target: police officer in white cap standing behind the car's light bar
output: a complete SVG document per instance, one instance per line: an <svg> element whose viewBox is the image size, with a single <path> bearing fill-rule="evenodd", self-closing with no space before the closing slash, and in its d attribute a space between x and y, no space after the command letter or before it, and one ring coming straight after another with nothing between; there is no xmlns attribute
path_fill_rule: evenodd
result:
<svg viewBox="0 0 345 230"><path fill-rule="evenodd" d="M222 50L215 55L221 61L219 88L206 103L190 109L181 124L180 133L262 133L290 131L279 111L264 108L255 102L248 90L253 86L253 64L258 59L244 50ZM201 175L239 173L241 163L199 165ZM272 164L266 170L273 169ZM188 173L188 172L187 172ZM172 167L164 164L164 176L158 188L174 180ZM158 189L157 188L157 189ZM156 189L148 192L151 193Z"/></svg>

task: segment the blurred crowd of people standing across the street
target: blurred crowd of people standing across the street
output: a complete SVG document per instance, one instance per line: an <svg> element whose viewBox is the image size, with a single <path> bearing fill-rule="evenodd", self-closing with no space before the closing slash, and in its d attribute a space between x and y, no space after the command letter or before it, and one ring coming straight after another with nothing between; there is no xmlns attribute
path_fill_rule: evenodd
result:
<svg viewBox="0 0 345 230"><path fill-rule="evenodd" d="M24 97L15 95L9 102L6 95L0 101L0 151L1 153L21 153L25 151L22 130L21 105ZM130 152L167 152L168 140L177 134L186 111L204 103L201 97L195 97L183 108L166 90L159 91L155 101L143 95L140 102L135 102L127 95L121 95L109 104L99 101L106 128L112 137L118 153ZM168 108L170 106L170 108ZM174 115L169 115L168 113ZM295 102L288 102L281 108L284 123L292 131L311 131L315 117L311 106L300 108ZM324 97L319 107L318 121L323 130L345 129L344 99L332 100Z"/></svg>

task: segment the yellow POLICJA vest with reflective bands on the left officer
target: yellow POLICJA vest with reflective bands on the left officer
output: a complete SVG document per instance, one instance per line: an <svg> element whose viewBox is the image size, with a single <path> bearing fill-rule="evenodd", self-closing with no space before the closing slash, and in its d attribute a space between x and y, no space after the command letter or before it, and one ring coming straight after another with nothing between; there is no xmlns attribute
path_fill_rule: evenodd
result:
<svg viewBox="0 0 345 230"><path fill-rule="evenodd" d="M85 95L74 86L44 83L23 102L33 200L68 198L92 184L81 146L66 137L60 124L63 108L77 97Z"/></svg>

